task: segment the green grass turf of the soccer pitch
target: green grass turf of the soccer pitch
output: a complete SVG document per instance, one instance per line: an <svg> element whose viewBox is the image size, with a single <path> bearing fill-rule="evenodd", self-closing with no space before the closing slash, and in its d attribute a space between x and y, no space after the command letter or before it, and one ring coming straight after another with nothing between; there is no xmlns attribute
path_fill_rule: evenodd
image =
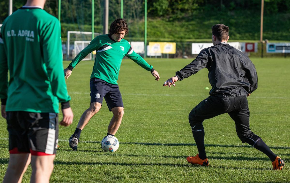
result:
<svg viewBox="0 0 290 183"><path fill-rule="evenodd" d="M90 104L90 74L93 62L82 61L67 81L72 98L74 122L60 127L59 145L51 182L289 182L290 180L290 96L289 58L253 58L258 71L258 89L248 98L251 130L285 160L282 171L271 170L268 157L242 144L234 122L227 114L204 122L209 167L193 166L186 157L196 155L188 114L206 98L210 87L206 69L176 87L163 87L175 71L191 60L147 59L159 72L150 72L124 59L119 87L124 101L124 118L116 137L118 151L103 152L99 141L106 135L112 113L106 103L81 134L79 151L71 151L68 138ZM67 67L68 61L64 62ZM61 118L61 117L60 117ZM6 122L0 120L0 180L8 164ZM23 182L29 182L31 168Z"/></svg>

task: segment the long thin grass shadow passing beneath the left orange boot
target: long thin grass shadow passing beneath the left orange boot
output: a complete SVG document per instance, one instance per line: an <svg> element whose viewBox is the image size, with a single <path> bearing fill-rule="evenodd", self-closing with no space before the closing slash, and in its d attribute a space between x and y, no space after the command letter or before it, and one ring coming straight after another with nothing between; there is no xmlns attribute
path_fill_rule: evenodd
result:
<svg viewBox="0 0 290 183"><path fill-rule="evenodd" d="M200 167L200 165L191 164L174 164L174 163L117 163L117 162L63 162L55 161L55 165L120 165L120 166L174 166L174 167ZM257 168L257 167L228 167L228 166L209 166L207 168L222 168L222 169L237 169L237 170L271 170L271 168Z"/></svg>

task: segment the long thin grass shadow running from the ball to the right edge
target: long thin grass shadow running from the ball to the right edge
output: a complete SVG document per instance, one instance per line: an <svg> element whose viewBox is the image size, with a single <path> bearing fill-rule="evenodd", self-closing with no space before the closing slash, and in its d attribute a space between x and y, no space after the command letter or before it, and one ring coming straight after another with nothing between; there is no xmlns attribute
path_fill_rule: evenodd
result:
<svg viewBox="0 0 290 183"><path fill-rule="evenodd" d="M99 141L81 141L82 143L101 143ZM151 146L196 146L195 143L148 143L148 142L120 142L120 144L137 144L137 145L151 145ZM205 147L250 147L250 145L224 145L224 144L205 144ZM270 149L290 149L290 147L274 147L269 146Z"/></svg>

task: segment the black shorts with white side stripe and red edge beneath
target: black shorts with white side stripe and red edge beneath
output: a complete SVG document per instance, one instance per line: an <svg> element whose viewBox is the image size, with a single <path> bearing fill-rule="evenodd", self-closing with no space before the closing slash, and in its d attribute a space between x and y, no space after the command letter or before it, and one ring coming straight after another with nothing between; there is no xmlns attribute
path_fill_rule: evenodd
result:
<svg viewBox="0 0 290 183"><path fill-rule="evenodd" d="M7 111L9 151L30 151L56 154L58 143L58 114Z"/></svg>

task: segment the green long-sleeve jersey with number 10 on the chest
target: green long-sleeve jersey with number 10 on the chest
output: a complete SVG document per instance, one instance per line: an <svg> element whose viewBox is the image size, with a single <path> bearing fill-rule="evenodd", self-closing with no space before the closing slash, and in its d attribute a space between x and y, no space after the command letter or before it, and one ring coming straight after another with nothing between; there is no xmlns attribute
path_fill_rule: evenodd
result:
<svg viewBox="0 0 290 183"><path fill-rule="evenodd" d="M140 55L134 52L131 45L125 39L120 42L113 40L108 34L95 37L69 64L72 70L88 54L96 50L95 64L91 78L99 78L110 84L117 85L119 70L123 57L126 55L138 65L150 71L149 65Z"/></svg>

